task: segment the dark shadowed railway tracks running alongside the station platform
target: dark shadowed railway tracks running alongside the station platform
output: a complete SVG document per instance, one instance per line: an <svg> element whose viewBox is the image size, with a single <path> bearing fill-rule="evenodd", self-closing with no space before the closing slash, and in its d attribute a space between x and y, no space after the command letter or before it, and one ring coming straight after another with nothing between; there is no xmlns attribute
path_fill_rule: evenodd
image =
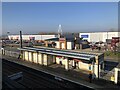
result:
<svg viewBox="0 0 120 90"><path fill-rule="evenodd" d="M18 83L26 88L87 88L66 80L55 80L55 77L52 75L7 60L3 60L2 66L3 74L7 76L13 73L23 72L23 79L18 81Z"/></svg>

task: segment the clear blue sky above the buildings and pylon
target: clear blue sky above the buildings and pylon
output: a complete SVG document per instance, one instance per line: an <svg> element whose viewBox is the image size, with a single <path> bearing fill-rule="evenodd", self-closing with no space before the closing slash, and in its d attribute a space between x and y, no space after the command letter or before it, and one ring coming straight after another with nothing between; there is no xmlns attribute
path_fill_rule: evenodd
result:
<svg viewBox="0 0 120 90"><path fill-rule="evenodd" d="M2 33L109 31L118 28L117 2L3 2Z"/></svg>

